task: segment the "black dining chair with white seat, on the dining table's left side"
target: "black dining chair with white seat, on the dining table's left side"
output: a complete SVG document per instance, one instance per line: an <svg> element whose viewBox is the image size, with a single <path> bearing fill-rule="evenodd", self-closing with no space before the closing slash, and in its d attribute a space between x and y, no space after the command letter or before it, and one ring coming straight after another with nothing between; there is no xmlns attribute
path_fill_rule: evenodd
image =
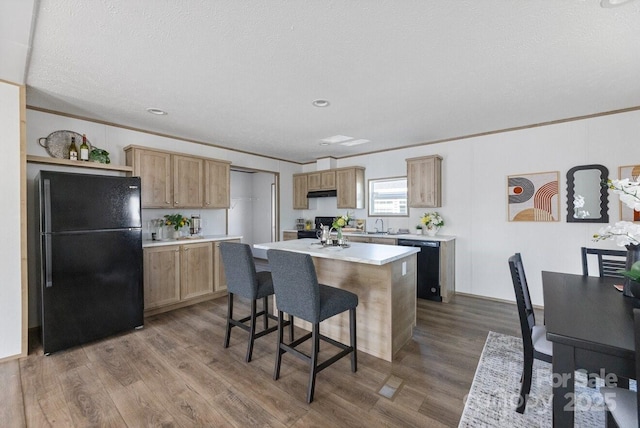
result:
<svg viewBox="0 0 640 428"><path fill-rule="evenodd" d="M515 253L509 257L509 269L513 289L516 294L518 306L518 316L520 318L520 330L522 332L522 345L524 350L524 367L522 370L520 387L520 397L518 400L518 413L524 413L527 406L527 398L531 391L531 381L533 377L533 360L538 359L551 362L553 348L551 342L547 340L547 329L543 325L536 325L536 317L533 312L533 304L529 295L527 277L522 264L522 256Z"/></svg>

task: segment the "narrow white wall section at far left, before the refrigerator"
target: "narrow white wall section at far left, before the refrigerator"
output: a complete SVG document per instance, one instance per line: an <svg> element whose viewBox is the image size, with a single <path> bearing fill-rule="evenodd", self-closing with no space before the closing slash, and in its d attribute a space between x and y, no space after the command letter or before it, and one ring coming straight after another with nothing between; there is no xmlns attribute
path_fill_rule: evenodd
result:
<svg viewBox="0 0 640 428"><path fill-rule="evenodd" d="M0 81L0 360L22 353L20 108L20 87Z"/></svg>

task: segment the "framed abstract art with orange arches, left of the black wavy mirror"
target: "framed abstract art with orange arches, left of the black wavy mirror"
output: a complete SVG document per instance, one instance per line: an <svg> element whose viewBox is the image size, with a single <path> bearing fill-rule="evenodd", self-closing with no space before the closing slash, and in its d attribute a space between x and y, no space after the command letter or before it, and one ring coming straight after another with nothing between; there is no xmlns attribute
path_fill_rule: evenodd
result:
<svg viewBox="0 0 640 428"><path fill-rule="evenodd" d="M560 221L558 171L507 177L509 221Z"/></svg>

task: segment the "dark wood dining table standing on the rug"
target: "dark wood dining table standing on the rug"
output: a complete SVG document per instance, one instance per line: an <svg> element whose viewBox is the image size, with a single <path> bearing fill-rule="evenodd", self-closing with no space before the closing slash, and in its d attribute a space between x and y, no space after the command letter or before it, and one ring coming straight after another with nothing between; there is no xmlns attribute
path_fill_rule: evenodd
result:
<svg viewBox="0 0 640 428"><path fill-rule="evenodd" d="M635 377L633 308L620 279L542 272L547 339L553 343L553 426L573 427L576 369Z"/></svg>

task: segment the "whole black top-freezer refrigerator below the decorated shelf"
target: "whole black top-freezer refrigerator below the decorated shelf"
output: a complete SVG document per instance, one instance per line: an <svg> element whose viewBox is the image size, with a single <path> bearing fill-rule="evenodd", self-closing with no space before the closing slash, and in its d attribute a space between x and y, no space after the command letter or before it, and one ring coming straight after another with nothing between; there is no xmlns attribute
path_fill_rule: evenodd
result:
<svg viewBox="0 0 640 428"><path fill-rule="evenodd" d="M45 354L143 325L140 178L41 171Z"/></svg>

